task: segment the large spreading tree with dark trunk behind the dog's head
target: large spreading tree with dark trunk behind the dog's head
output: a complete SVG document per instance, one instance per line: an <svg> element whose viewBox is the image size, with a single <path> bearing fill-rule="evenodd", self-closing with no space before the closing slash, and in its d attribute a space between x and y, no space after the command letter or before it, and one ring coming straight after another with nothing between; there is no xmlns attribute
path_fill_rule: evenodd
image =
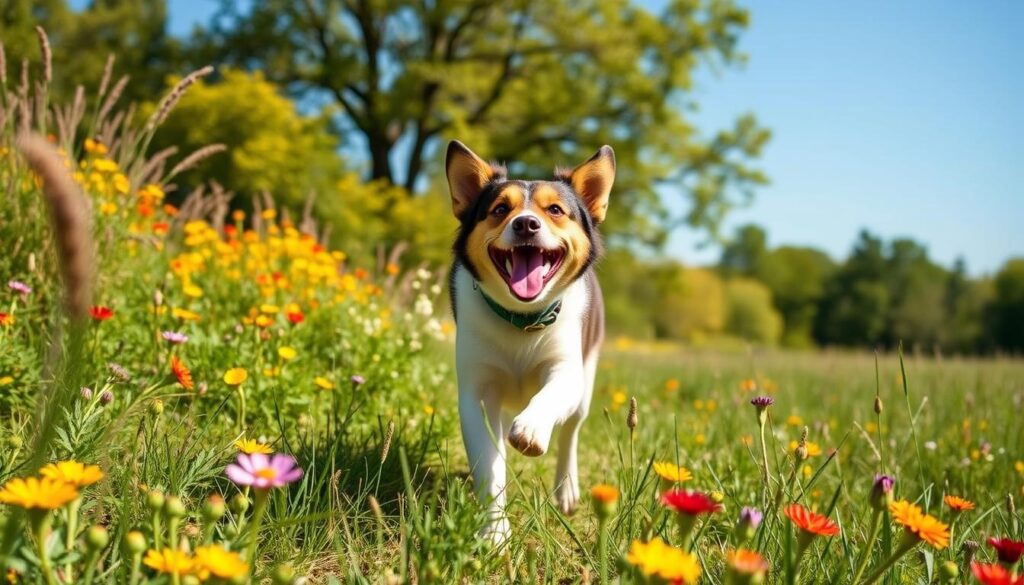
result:
<svg viewBox="0 0 1024 585"><path fill-rule="evenodd" d="M514 174L551 176L613 143L606 231L657 244L679 224L715 229L765 177L752 116L700 136L683 116L700 62L731 65L748 25L731 0L222 0L198 61L263 69L303 102L337 107L367 177L422 191L456 137ZM689 196L673 217L664 192ZM671 189L670 189L671 187Z"/></svg>

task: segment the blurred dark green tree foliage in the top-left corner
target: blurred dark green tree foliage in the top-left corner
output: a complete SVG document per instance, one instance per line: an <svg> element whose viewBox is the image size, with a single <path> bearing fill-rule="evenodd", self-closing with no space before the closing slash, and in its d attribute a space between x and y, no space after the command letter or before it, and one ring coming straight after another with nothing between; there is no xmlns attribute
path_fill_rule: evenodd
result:
<svg viewBox="0 0 1024 585"><path fill-rule="evenodd" d="M0 39L7 56L8 78L22 59L40 67L34 28L46 30L55 72L50 91L70 98L77 85L95 87L108 55L115 55L116 75L128 75L125 101L152 99L164 89L165 77L179 71L181 47L167 34L164 0L94 0L73 10L67 0L4 0L0 3ZM117 78L111 81L115 83Z"/></svg>

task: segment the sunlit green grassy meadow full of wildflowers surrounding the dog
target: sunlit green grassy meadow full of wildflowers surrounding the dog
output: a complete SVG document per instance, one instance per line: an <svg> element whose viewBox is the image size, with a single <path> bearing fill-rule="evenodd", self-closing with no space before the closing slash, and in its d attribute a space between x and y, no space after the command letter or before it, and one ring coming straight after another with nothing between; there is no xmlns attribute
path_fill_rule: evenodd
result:
<svg viewBox="0 0 1024 585"><path fill-rule="evenodd" d="M495 549L477 537L485 515L458 433L441 273L397 256L359 265L323 245L313 218L293 221L269 201L228 213L213 190L172 206L170 155L142 152L155 125L84 103L39 117L32 91L3 88L0 127L0 282L12 283L0 291L0 568L10 579L555 583L600 580L606 566L622 582L699 571L703 583L850 583L862 565L889 583L966 582L971 555L993 555L965 543L1024 536L1013 505L1024 484L1022 362L614 339L580 455L585 491L617 492L605 521L590 498L570 517L554 508L554 457L514 454L513 536ZM54 126L30 166L26 129ZM60 182L66 167L74 184ZM82 197L91 221L76 223L60 206ZM51 211L63 218L55 229ZM750 405L760 394L774 399L766 444ZM240 440L294 457L302 477L265 491L229 480ZM57 461L103 477L13 489ZM655 462L688 469L675 487L721 509L696 519L668 510ZM935 521L925 514L937 516L951 525L948 546L894 525L872 500L880 472L896 477L894 498L921 507L902 521L922 533ZM956 515L946 495L976 507ZM781 511L793 503L838 534L797 531ZM737 526L744 506L764 520ZM744 574L738 547L770 572ZM167 559L178 556L175 569Z"/></svg>

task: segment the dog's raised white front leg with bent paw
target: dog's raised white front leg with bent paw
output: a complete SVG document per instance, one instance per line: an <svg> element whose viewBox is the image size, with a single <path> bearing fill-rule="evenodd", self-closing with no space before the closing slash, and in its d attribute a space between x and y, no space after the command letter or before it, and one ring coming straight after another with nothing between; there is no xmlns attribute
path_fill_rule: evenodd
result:
<svg viewBox="0 0 1024 585"><path fill-rule="evenodd" d="M583 364L555 363L542 375L541 390L512 420L509 444L523 455L537 457L548 451L551 432L580 411L585 392Z"/></svg>

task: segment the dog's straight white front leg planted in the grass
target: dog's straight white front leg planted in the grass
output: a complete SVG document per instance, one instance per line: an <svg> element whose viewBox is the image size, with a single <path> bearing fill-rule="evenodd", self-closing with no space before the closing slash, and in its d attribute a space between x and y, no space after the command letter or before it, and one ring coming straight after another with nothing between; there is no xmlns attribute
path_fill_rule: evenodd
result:
<svg viewBox="0 0 1024 585"><path fill-rule="evenodd" d="M489 515L481 536L501 543L509 536L509 521L505 516L503 437L506 426L502 422L501 401L494 392L460 388L459 420L476 494L480 502L487 506Z"/></svg>

